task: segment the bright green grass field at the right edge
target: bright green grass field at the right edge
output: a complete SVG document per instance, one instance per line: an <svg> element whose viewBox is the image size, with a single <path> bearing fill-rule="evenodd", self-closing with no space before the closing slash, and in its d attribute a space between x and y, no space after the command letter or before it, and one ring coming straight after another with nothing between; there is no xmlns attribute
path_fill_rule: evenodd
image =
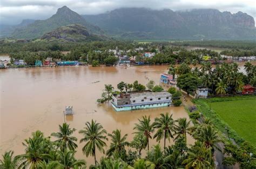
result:
<svg viewBox="0 0 256 169"><path fill-rule="evenodd" d="M222 118L239 136L256 146L256 97L240 100L228 100L207 104Z"/></svg>

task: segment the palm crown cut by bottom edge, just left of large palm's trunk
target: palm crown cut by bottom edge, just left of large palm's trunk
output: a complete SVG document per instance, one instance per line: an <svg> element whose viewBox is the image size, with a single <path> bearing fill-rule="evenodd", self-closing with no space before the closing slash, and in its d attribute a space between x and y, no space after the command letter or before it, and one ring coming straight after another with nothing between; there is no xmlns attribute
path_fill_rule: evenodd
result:
<svg viewBox="0 0 256 169"><path fill-rule="evenodd" d="M58 153L59 163L62 164L63 168L69 169L74 167L85 167L85 160L77 160L75 157L75 152L70 150L65 150L64 152Z"/></svg>

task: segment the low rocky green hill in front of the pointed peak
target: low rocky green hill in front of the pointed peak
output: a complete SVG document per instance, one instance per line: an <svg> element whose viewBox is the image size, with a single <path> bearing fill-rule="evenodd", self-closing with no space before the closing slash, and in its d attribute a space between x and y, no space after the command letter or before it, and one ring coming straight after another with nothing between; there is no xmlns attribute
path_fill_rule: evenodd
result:
<svg viewBox="0 0 256 169"><path fill-rule="evenodd" d="M109 39L103 35L96 35L90 33L85 26L80 24L72 24L68 26L62 26L51 32L45 33L41 39L45 40L62 40L69 42L81 42L81 41L92 41L92 40L106 40Z"/></svg>

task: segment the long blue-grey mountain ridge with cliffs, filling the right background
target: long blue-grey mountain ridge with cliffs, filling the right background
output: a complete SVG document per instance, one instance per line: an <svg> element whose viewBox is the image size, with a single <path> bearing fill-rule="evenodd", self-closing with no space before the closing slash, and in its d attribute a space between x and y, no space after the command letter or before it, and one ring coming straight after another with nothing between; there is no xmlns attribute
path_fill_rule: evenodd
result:
<svg viewBox="0 0 256 169"><path fill-rule="evenodd" d="M84 15L110 35L160 39L256 39L253 17L215 9L172 11L122 8L99 15Z"/></svg>

